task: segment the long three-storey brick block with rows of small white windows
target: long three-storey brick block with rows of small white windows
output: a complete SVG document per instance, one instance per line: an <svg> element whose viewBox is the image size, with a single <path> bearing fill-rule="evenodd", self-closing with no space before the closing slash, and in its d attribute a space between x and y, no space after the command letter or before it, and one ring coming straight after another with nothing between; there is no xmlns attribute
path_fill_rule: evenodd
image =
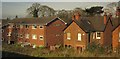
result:
<svg viewBox="0 0 120 59"><path fill-rule="evenodd" d="M9 22L7 33L14 42L28 42L34 46L55 46L63 44L63 29L68 20L59 17L15 18ZM5 37L4 37L5 38Z"/></svg>

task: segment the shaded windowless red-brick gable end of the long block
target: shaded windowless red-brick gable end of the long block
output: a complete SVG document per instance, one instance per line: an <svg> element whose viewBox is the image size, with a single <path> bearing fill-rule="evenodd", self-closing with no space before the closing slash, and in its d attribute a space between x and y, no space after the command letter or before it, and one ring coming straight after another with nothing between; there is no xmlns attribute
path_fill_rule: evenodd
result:
<svg viewBox="0 0 120 59"><path fill-rule="evenodd" d="M48 47L63 44L63 29L65 27L66 24L58 19L46 26L46 45Z"/></svg>

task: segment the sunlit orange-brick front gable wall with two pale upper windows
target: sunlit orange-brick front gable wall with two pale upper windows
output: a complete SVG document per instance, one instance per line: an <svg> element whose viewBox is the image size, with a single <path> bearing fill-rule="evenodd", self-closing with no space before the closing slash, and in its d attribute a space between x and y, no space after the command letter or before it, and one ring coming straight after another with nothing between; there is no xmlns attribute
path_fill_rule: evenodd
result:
<svg viewBox="0 0 120 59"><path fill-rule="evenodd" d="M71 33L71 40L67 39L67 33ZM81 41L78 41L78 33L81 33ZM77 47L82 47L85 49L87 44L87 34L75 23L71 23L64 31L64 46L71 45L75 49Z"/></svg>

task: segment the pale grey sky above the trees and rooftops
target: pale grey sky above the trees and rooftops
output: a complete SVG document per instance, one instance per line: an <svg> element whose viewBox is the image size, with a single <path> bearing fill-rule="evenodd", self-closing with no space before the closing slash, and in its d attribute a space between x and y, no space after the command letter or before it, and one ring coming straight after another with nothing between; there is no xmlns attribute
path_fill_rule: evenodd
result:
<svg viewBox="0 0 120 59"><path fill-rule="evenodd" d="M67 9L67 10L72 10L75 7L80 7L80 8L86 8L86 7L91 7L94 5L100 5L100 6L106 6L107 4L111 3L113 0L110 0L108 2L103 2L103 1L93 1L90 2L90 0L80 0L77 2L77 0L1 0L2 1L2 6L0 3L0 7L2 7L2 18L14 18L16 15L18 17L25 17L27 15L26 9L32 5L33 2L38 2L41 5L47 5L49 7L52 7L55 10L58 9ZM81 2L83 1L83 2ZM114 0L117 1L117 0ZM0 12L1 16L1 12ZM1 17L0 17L1 18Z"/></svg>

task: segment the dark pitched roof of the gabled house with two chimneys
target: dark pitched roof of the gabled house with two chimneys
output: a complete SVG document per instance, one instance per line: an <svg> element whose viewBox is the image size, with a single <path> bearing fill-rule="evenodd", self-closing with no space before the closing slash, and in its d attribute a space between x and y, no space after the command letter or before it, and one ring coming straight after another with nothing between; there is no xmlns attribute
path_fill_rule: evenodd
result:
<svg viewBox="0 0 120 59"><path fill-rule="evenodd" d="M109 17L107 17L107 21L108 21L108 19L109 19ZM104 16L81 17L79 20L74 20L74 22L80 28L82 28L85 32L94 32L94 31L101 32L101 31L104 31L104 28L105 28Z"/></svg>

